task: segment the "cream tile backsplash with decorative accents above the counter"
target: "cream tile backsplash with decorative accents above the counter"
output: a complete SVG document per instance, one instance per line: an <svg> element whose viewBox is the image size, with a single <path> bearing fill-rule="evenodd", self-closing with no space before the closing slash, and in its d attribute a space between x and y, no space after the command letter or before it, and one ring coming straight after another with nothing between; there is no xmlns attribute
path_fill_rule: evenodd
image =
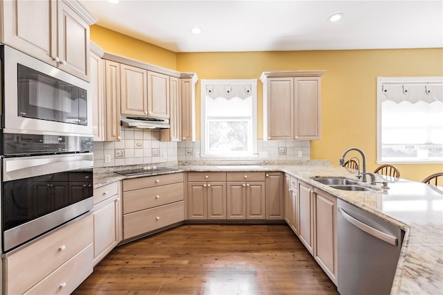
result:
<svg viewBox="0 0 443 295"><path fill-rule="evenodd" d="M160 141L159 138L159 130L122 128L121 141L94 142L94 167L174 161L306 161L310 159L310 141L257 140L256 157L238 158L200 157L200 141L177 143ZM266 153L267 156L263 157Z"/></svg>

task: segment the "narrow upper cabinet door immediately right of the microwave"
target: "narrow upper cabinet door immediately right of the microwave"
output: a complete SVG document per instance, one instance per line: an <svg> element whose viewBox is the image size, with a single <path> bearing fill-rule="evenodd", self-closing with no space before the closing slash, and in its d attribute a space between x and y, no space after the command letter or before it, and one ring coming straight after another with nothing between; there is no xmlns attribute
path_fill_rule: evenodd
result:
<svg viewBox="0 0 443 295"><path fill-rule="evenodd" d="M89 99L92 100L92 133L94 141L105 141L105 92L104 63L100 56L91 52L90 62L90 85Z"/></svg>

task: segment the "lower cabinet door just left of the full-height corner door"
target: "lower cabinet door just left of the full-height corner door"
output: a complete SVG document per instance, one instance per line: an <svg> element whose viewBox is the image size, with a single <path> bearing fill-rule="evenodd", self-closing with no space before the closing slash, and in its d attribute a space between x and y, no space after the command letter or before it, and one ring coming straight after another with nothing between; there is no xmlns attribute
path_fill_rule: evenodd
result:
<svg viewBox="0 0 443 295"><path fill-rule="evenodd" d="M246 219L266 218L265 181L246 182Z"/></svg>

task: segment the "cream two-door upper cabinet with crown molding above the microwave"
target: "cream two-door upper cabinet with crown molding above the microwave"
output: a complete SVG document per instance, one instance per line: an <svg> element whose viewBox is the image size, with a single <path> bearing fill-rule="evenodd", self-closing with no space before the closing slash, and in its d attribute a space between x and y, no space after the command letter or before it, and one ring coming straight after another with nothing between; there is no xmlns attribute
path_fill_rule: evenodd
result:
<svg viewBox="0 0 443 295"><path fill-rule="evenodd" d="M78 1L2 1L2 42L89 81L89 26Z"/></svg>

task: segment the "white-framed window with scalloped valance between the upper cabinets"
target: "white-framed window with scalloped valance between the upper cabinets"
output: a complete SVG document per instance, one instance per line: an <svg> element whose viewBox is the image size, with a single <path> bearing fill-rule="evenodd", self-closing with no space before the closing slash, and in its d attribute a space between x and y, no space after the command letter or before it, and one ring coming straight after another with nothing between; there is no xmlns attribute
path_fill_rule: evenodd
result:
<svg viewBox="0 0 443 295"><path fill-rule="evenodd" d="M257 80L201 80L201 155L253 157Z"/></svg>

